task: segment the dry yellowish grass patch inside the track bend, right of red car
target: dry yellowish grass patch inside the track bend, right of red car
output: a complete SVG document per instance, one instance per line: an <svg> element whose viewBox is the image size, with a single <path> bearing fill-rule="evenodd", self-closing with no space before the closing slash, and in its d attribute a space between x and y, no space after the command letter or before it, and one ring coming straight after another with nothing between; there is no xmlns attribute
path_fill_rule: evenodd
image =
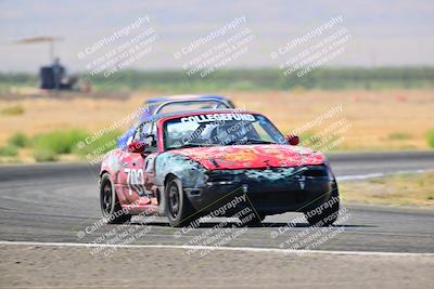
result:
<svg viewBox="0 0 434 289"><path fill-rule="evenodd" d="M340 189L344 201L434 207L434 172L346 182Z"/></svg>

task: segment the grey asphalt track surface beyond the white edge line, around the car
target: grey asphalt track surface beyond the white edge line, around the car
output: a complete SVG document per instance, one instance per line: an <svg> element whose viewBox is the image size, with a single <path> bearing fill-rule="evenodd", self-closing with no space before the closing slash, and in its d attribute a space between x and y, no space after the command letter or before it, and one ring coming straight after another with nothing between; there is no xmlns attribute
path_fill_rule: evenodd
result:
<svg viewBox="0 0 434 289"><path fill-rule="evenodd" d="M330 159L339 178L434 169L434 153L429 152L339 155ZM77 238L77 233L101 218L97 175L98 168L86 163L0 167L0 240L84 241ZM434 252L432 210L345 203L343 207L350 213L343 224L345 232L317 249ZM296 216L294 213L267 216L265 227L251 228L228 246L279 248L292 233L303 231L307 224L301 222L276 238L270 237L271 232ZM164 218L152 220L151 224L153 229L137 244L183 245L213 226L204 223L175 238L176 229L168 227ZM85 240L92 241L105 229L110 231L111 225L86 236L89 238Z"/></svg>

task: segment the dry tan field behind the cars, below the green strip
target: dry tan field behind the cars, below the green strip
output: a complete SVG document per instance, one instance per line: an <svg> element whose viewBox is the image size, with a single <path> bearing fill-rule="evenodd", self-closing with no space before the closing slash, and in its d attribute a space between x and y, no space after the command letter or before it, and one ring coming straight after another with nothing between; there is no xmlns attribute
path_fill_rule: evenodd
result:
<svg viewBox="0 0 434 289"><path fill-rule="evenodd" d="M427 148L425 135L434 129L433 89L220 94L230 96L239 107L264 113L284 132L304 129L302 135L320 133L321 139L328 135L330 141L340 139L333 149ZM62 95L2 97L0 111L11 106L20 106L24 111L0 114L0 145L17 131L28 135L67 128L94 132L128 118L144 100L156 95L161 93L135 92L130 97L124 97L123 93L119 100L113 93L106 98L101 93L93 98ZM330 117L327 117L328 113ZM341 120L344 120L345 128ZM310 121L316 122L311 126ZM120 130L126 127L122 126ZM320 148L327 150L327 147Z"/></svg>

